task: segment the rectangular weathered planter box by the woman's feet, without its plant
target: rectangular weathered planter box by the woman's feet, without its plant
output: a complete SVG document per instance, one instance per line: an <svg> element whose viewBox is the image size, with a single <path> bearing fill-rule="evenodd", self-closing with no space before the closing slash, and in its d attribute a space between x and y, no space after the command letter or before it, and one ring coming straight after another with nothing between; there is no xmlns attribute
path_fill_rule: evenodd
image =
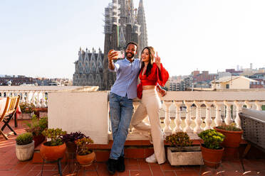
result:
<svg viewBox="0 0 265 176"><path fill-rule="evenodd" d="M199 146L167 148L170 165L203 165L202 151Z"/></svg>

